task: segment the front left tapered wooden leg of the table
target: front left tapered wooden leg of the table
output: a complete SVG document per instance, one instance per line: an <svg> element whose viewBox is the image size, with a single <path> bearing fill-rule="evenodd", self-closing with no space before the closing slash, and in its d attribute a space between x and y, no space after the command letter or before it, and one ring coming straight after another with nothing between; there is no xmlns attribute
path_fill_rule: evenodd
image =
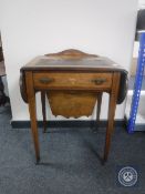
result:
<svg viewBox="0 0 145 194"><path fill-rule="evenodd" d="M27 94L28 94L28 102L29 102L31 131L32 131L32 137L34 143L35 159L38 163L40 161L40 149L39 149L38 125L37 125L35 93L33 89L32 72L25 73L25 81L27 81Z"/></svg>

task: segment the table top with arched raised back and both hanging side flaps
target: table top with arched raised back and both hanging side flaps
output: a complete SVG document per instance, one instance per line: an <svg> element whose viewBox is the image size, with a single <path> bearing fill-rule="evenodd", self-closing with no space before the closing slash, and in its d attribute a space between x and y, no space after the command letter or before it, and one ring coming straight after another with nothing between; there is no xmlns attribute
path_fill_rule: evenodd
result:
<svg viewBox="0 0 145 194"><path fill-rule="evenodd" d="M46 72L54 71L54 72L75 72L75 73L82 73L82 72L91 72L91 73L104 73L104 72L120 72L121 73L121 80L120 80L120 91L118 91L118 99L117 103L121 103L127 91L127 71L110 60L105 57L100 57L95 54L87 54L85 52L69 49L61 51L59 53L50 53L45 55L40 55L34 58L32 61L30 61L28 64L22 67L20 69L20 88L22 98L27 102L25 93L23 92L25 90L24 88L24 72L31 71L32 73L37 72ZM23 94L24 93L24 94Z"/></svg>

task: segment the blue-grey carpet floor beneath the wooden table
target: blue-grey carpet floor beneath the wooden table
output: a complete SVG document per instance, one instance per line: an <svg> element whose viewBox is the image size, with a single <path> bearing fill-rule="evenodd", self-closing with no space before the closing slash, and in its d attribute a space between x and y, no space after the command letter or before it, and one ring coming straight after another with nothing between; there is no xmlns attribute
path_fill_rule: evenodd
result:
<svg viewBox="0 0 145 194"><path fill-rule="evenodd" d="M145 133L115 129L108 161L101 164L105 130L49 129L34 163L30 129L11 129L9 108L0 108L0 194L145 194ZM117 167L138 169L138 184L117 184Z"/></svg>

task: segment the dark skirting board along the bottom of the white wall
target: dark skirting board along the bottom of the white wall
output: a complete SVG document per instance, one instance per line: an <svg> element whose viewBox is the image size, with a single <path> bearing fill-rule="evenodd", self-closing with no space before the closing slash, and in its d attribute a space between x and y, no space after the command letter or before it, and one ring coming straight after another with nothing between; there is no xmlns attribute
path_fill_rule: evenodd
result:
<svg viewBox="0 0 145 194"><path fill-rule="evenodd" d="M100 126L105 127L107 125L106 120L101 120L100 121ZM125 127L125 120L115 120L115 126L121 126ZM24 127L30 127L30 121L11 121L11 126L13 129L24 129ZM43 127L43 122L38 121L38 126ZM69 121L58 121L58 120L51 120L48 121L48 127L95 127L97 126L96 121L82 121L82 120L69 120Z"/></svg>

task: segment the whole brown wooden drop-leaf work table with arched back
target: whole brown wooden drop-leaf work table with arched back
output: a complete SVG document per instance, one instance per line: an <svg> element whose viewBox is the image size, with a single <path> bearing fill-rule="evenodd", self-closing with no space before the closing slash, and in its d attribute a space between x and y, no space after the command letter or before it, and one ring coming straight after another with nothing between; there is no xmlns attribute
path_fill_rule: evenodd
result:
<svg viewBox="0 0 145 194"><path fill-rule="evenodd" d="M72 49L37 57L22 67L20 72L20 89L23 100L29 105L37 162L40 161L35 112L37 92L41 92L42 103L44 102L43 94L46 94L54 115L65 118L91 115L95 102L100 99L97 119L102 93L107 92L110 94L108 122L103 156L106 161L116 104L121 104L126 95L127 72L107 58Z"/></svg>

